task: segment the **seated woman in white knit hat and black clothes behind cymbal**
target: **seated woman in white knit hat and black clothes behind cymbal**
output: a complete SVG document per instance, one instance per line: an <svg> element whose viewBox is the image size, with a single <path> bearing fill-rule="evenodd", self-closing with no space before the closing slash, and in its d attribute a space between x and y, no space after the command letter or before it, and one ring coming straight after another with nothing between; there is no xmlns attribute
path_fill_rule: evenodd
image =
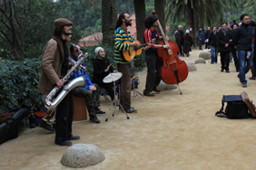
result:
<svg viewBox="0 0 256 170"><path fill-rule="evenodd" d="M103 79L110 72L118 71L115 71L111 63L105 58L103 47L97 47L95 49L95 54L97 58L94 60L94 75L92 81L98 84L99 87L105 89L108 95L111 97L112 101L114 101L113 83L104 83Z"/></svg>

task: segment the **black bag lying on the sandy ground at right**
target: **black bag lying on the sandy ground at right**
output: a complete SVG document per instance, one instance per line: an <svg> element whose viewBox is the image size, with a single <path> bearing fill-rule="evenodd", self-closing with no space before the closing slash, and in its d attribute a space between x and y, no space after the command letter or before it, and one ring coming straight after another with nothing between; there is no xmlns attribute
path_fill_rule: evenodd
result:
<svg viewBox="0 0 256 170"><path fill-rule="evenodd" d="M224 109L224 103L227 102L227 106ZM241 99L241 95L223 95L222 108L215 113L215 116L221 118L250 118L247 105Z"/></svg>

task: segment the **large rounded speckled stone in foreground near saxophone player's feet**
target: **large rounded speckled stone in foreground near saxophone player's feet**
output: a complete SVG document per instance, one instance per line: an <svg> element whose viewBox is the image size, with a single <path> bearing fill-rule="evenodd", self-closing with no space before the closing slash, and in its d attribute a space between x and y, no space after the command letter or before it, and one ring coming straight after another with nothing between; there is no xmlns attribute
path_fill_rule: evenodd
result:
<svg viewBox="0 0 256 170"><path fill-rule="evenodd" d="M105 159L102 150L93 144L74 144L66 149L61 163L67 167L87 167Z"/></svg>

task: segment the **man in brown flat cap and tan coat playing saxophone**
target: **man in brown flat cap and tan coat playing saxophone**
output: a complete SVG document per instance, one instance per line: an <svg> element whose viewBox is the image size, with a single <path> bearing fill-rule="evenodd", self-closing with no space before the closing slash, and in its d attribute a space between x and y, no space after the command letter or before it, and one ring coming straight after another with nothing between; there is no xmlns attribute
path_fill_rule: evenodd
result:
<svg viewBox="0 0 256 170"><path fill-rule="evenodd" d="M54 36L44 46L42 55L39 92L47 95L57 86L61 89L64 83L61 78L70 68L67 41L70 41L72 33L72 22L58 18L54 21ZM55 115L55 145L71 146L70 140L80 139L79 136L72 135L72 121L74 116L73 92L69 92L56 108ZM42 125L42 124L41 124ZM43 122L44 128L47 124Z"/></svg>

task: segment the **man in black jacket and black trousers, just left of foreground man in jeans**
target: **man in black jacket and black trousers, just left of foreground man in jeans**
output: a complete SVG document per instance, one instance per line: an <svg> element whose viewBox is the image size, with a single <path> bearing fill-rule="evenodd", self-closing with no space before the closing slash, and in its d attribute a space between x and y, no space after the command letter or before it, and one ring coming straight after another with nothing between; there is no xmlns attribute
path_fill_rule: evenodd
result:
<svg viewBox="0 0 256 170"><path fill-rule="evenodd" d="M232 33L227 29L227 25L222 23L222 28L220 32L217 33L217 42L219 43L219 52L221 52L221 63L222 63L222 72L230 72L230 52L231 52L231 43L232 43Z"/></svg>

